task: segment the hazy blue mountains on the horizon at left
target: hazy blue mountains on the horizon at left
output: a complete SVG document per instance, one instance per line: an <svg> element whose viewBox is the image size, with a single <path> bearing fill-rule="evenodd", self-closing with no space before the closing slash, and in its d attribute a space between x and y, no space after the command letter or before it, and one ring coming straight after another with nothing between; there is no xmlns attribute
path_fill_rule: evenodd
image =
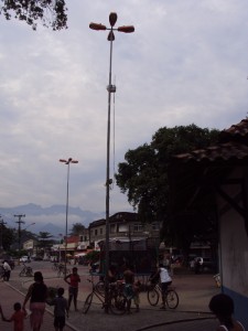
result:
<svg viewBox="0 0 248 331"><path fill-rule="evenodd" d="M65 205L41 205L29 203L14 207L0 207L0 215L9 227L18 227L19 217L14 215L25 215L21 217L21 228L33 233L48 232L54 236L65 233ZM105 217L105 213L93 213L83 211L80 207L68 206L68 232L73 224L82 223L86 227L89 223ZM33 224L35 223L35 224Z"/></svg>

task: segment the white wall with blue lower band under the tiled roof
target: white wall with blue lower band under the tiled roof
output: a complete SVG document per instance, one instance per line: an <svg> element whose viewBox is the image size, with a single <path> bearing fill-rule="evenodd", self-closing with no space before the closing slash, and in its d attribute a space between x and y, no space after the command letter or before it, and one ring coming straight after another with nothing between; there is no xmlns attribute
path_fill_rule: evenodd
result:
<svg viewBox="0 0 248 331"><path fill-rule="evenodd" d="M230 178L245 177L236 169ZM223 186L224 188L224 186ZM244 207L240 185L225 185L225 192ZM235 317L248 330L248 236L244 217L218 196L220 277L223 291L235 300Z"/></svg>

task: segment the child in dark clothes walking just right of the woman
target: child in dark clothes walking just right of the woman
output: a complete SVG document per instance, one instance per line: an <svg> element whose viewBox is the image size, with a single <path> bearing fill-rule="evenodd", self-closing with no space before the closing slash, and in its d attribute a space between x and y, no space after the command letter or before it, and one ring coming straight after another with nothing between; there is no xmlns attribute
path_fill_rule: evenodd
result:
<svg viewBox="0 0 248 331"><path fill-rule="evenodd" d="M54 328L55 331L63 331L65 327L65 314L68 318L68 305L67 300L63 297L64 289L60 287L57 289L57 297L54 299Z"/></svg>

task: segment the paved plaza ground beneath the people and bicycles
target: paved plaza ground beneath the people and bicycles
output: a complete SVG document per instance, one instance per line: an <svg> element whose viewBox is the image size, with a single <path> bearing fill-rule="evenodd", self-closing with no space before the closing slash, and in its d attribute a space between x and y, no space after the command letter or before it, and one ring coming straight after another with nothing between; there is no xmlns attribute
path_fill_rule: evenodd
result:
<svg viewBox="0 0 248 331"><path fill-rule="evenodd" d="M79 270L84 273L83 270ZM12 313L12 305L15 301L23 302L23 293L32 282L32 279L24 280L22 284L12 273L10 282L0 282L1 305L7 317ZM47 274L47 276L45 276ZM60 278L51 278L47 273L45 284L47 286L63 286L64 280ZM86 276L87 277L87 276ZM84 278L84 276L82 276ZM84 278L86 279L86 278ZM215 287L212 275L179 275L174 276L173 285L180 297L180 305L176 310L160 310L159 307L151 307L147 300L147 293L141 293L140 312L125 316L107 314L101 309L97 300L94 300L87 314L83 314L82 308L84 300L89 291L86 287L87 281L82 281L78 297L78 312L71 311L67 319L67 325L64 331L141 331L141 330L164 330L166 331L208 331L216 329L217 321L208 311L208 302L213 295L219 291ZM65 297L67 292L65 293ZM54 330L53 328L53 308L47 307L42 330ZM164 327L166 325L166 327ZM0 321L0 330L13 330L12 323ZM30 331L29 320L25 321L25 330ZM41 331L42 331L41 330Z"/></svg>

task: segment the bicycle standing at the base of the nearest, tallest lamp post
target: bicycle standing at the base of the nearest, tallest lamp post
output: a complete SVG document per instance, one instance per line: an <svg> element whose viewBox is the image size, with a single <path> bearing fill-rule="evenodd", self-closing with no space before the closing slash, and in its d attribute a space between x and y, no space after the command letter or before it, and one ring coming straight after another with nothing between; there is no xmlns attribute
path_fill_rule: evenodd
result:
<svg viewBox="0 0 248 331"><path fill-rule="evenodd" d="M105 302L105 293L101 291L98 291L97 285L94 284L93 280L87 279L93 288L91 292L87 296L84 307L83 307L83 313L87 313L91 302L93 302L93 297L96 296L98 300L103 303L101 308L106 308L106 302ZM100 288L101 289L101 288ZM111 313L114 314L123 314L126 312L126 298L123 297L123 288L122 285L119 285L118 282L116 284L109 284L108 287L108 302L107 307L110 310Z"/></svg>

